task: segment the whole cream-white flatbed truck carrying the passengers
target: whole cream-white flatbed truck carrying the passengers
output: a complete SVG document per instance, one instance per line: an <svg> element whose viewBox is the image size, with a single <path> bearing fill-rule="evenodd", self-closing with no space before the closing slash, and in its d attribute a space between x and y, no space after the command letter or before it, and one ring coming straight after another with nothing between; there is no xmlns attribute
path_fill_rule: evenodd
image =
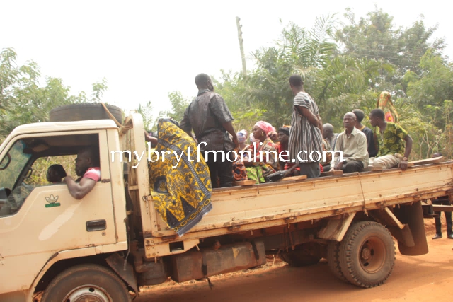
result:
<svg viewBox="0 0 453 302"><path fill-rule="evenodd" d="M86 197L33 184L42 158L84 146L96 146L101 162ZM212 211L180 238L154 209L147 161L111 160L145 148L136 113L120 126L42 122L11 132L0 146L0 301L131 301L140 286L256 267L271 254L295 266L324 257L339 279L379 286L394 267L394 238L403 255L428 252L421 201L453 187L447 161L214 189Z"/></svg>

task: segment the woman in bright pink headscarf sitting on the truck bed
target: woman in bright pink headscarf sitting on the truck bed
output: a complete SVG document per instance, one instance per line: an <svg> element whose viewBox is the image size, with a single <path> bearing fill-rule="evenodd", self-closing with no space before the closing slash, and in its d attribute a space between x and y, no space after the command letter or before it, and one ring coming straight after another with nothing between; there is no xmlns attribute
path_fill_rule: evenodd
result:
<svg viewBox="0 0 453 302"><path fill-rule="evenodd" d="M275 128L268 122L259 121L253 126L253 138L258 142L248 145L243 153L243 163L246 166L248 180L262 183L265 182L265 175L278 170L277 149L268 137L268 133L273 131L275 132ZM266 156L266 151L269 156ZM251 161L248 161L248 153L250 153Z"/></svg>

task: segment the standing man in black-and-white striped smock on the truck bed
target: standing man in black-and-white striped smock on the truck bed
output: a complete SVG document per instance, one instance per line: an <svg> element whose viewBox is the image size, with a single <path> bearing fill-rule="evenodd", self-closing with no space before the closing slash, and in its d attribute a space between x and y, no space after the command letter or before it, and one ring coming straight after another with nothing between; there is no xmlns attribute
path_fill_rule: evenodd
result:
<svg viewBox="0 0 453 302"><path fill-rule="evenodd" d="M300 167L300 175L317 178L321 175L319 161L323 156L322 120L318 105L304 91L302 77L289 77L289 86L294 93L291 130L289 132L289 157L291 163Z"/></svg>

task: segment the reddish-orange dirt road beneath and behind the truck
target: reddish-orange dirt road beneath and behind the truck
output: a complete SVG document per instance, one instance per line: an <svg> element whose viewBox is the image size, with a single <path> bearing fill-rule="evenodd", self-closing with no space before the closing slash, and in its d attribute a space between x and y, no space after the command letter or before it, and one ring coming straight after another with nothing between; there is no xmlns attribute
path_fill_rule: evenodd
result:
<svg viewBox="0 0 453 302"><path fill-rule="evenodd" d="M431 233L431 232L430 232ZM386 283L360 289L333 277L327 262L311 267L289 267L268 263L263 269L244 274L212 277L214 288L206 281L154 286L136 300L161 301L450 301L453 296L453 240L432 240L428 236L427 255L403 256L396 248L394 270Z"/></svg>

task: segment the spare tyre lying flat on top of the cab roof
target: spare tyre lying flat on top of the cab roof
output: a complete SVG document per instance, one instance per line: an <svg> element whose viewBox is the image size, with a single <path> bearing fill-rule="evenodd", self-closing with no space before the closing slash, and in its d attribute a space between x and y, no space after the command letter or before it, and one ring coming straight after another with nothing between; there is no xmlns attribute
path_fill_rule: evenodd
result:
<svg viewBox="0 0 453 302"><path fill-rule="evenodd" d="M105 104L115 119L122 123L121 108ZM49 112L50 122L73 122L81 120L109 120L101 103L80 103L56 107Z"/></svg>

